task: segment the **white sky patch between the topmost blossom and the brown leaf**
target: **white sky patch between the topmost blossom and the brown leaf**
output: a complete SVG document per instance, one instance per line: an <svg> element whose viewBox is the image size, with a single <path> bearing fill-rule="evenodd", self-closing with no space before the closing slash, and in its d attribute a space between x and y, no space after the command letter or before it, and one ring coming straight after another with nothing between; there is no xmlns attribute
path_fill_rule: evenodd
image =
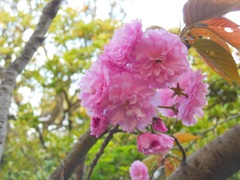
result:
<svg viewBox="0 0 240 180"><path fill-rule="evenodd" d="M132 0L126 8L127 20L139 18L143 27L153 25L165 29L179 27L182 23L182 8L187 0Z"/></svg>

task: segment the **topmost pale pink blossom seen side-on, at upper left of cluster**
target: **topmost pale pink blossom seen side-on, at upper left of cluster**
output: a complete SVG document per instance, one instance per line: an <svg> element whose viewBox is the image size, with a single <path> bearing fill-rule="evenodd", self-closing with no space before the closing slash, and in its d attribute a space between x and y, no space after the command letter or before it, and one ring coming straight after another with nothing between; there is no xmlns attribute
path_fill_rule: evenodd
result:
<svg viewBox="0 0 240 180"><path fill-rule="evenodd" d="M120 66L126 65L142 34L142 24L139 20L126 23L114 32L112 40L104 47L104 53L99 56L99 59L109 60Z"/></svg>

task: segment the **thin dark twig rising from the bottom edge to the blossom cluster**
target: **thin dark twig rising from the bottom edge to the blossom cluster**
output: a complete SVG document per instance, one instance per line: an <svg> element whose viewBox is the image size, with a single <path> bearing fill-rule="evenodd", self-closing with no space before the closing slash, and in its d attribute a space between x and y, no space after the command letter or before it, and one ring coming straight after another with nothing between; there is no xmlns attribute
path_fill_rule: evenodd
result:
<svg viewBox="0 0 240 180"><path fill-rule="evenodd" d="M110 142L110 140L113 138L113 134L116 133L117 129L118 129L119 125L114 126L108 133L107 137L105 138L105 140L102 143L102 146L100 148L100 150L98 151L98 153L96 154L95 158L93 159L93 161L90 164L90 170L88 172L88 176L87 176L87 180L90 180L91 176L92 176L92 172L94 170L94 167L97 165L97 162L99 160L99 158L101 157L101 155L104 153L104 149L107 147L108 143Z"/></svg>

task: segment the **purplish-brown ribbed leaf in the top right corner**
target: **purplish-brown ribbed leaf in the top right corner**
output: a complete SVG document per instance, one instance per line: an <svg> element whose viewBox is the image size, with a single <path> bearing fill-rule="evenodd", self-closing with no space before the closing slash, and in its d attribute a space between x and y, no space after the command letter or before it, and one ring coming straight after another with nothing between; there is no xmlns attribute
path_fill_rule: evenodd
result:
<svg viewBox="0 0 240 180"><path fill-rule="evenodd" d="M240 0L189 0L183 7L186 26L240 10Z"/></svg>

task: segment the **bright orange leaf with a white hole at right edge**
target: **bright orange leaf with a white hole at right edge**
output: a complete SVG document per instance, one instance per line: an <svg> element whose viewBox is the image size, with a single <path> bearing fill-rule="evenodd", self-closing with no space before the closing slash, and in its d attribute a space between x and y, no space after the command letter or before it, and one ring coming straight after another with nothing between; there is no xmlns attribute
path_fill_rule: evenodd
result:
<svg viewBox="0 0 240 180"><path fill-rule="evenodd" d="M227 18L213 18L203 22L206 28L240 50L240 26Z"/></svg>

